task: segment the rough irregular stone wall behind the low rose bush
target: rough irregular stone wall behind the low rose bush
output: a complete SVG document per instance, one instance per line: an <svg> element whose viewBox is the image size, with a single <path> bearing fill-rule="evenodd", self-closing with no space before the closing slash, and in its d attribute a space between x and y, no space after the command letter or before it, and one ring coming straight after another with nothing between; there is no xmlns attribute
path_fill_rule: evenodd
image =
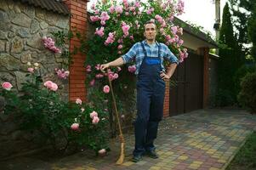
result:
<svg viewBox="0 0 256 170"><path fill-rule="evenodd" d="M51 32L67 32L69 16L1 0L0 23L0 83L11 82L20 89L26 81L27 62L37 62L43 80L56 82L61 96L68 99L68 81L60 80L54 73L54 68L62 68L66 61L44 48L42 37L52 37ZM30 141L31 134L21 132L12 116L0 113L0 158L36 148Z"/></svg>

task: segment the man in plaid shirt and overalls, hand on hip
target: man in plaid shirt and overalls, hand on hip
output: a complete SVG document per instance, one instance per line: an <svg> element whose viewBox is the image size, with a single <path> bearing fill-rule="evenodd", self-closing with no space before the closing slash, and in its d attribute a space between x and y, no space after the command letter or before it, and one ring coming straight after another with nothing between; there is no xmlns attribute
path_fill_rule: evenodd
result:
<svg viewBox="0 0 256 170"><path fill-rule="evenodd" d="M137 42L127 54L104 65L100 70L128 63L135 58L137 81L137 118L134 122L135 149L133 161L142 159L144 154L158 158L153 142L156 139L158 123L162 120L165 93L164 80L170 79L179 61L163 43L156 42L156 24L145 23L145 40ZM163 59L171 63L165 72Z"/></svg>

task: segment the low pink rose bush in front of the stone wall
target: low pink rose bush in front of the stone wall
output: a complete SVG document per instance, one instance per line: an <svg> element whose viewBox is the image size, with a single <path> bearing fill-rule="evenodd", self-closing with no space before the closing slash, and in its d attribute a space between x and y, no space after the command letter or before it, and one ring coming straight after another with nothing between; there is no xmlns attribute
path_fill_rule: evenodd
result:
<svg viewBox="0 0 256 170"><path fill-rule="evenodd" d="M43 82L35 67L28 69L27 82L19 94L11 83L2 83L0 96L6 100L4 113L14 114L22 129L35 132L39 141L49 142L55 150L86 145L98 154L98 150L107 149L105 111L96 112L81 99L76 103L61 100L58 85L49 80Z"/></svg>

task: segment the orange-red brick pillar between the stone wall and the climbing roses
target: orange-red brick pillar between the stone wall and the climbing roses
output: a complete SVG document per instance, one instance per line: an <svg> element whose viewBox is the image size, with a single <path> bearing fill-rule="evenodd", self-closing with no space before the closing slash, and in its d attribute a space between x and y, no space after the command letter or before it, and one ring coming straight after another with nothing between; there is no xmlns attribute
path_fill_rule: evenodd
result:
<svg viewBox="0 0 256 170"><path fill-rule="evenodd" d="M86 32L87 26L87 0L63 0L71 12L70 30L79 31L82 34ZM70 51L74 48L80 47L80 42L77 38L72 38L70 41ZM77 53L72 55L73 63L70 65L70 78L69 78L69 100L75 101L77 98L86 100L85 88L85 68L83 63L86 56Z"/></svg>

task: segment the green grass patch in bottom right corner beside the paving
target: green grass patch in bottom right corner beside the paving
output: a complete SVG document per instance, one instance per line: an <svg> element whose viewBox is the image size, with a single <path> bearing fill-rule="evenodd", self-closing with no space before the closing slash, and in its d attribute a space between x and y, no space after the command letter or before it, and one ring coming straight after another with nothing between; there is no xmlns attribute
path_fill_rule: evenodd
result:
<svg viewBox="0 0 256 170"><path fill-rule="evenodd" d="M247 139L226 170L256 169L256 132Z"/></svg>

